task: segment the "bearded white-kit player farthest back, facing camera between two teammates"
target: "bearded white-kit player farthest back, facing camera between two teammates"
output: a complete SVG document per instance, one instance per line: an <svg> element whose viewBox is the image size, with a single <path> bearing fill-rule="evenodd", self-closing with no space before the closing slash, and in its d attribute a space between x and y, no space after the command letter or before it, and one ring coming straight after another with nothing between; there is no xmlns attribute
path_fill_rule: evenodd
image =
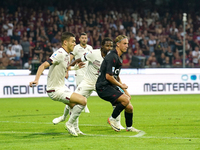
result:
<svg viewBox="0 0 200 150"><path fill-rule="evenodd" d="M73 52L71 52L70 60L72 61L73 58L79 59L81 58L84 54L88 53L89 51L93 50L92 46L87 44L88 37L86 33L81 33L81 36L79 38L80 44L77 44L74 47ZM81 83L83 80L83 77L85 75L85 72L87 70L88 62L85 62L85 67L76 70L75 78L76 78L76 87ZM90 113L87 105L85 106L85 112Z"/></svg>

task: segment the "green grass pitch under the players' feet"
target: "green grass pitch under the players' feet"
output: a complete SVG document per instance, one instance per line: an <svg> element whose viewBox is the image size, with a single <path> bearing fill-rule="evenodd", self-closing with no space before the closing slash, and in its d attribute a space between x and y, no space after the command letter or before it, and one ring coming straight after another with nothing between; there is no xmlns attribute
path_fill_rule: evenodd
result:
<svg viewBox="0 0 200 150"><path fill-rule="evenodd" d="M200 149L199 95L132 96L133 126L146 134L115 132L107 124L110 103L90 97L72 137L65 122L53 125L64 104L50 98L0 99L0 149L10 150L197 150ZM68 119L68 118L67 118ZM121 119L125 126L124 113Z"/></svg>

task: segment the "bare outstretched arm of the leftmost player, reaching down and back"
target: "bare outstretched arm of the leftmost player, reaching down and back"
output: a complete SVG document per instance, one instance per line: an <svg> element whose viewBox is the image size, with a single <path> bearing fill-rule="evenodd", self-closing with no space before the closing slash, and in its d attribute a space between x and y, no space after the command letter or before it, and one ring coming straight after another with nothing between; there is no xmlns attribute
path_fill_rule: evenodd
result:
<svg viewBox="0 0 200 150"><path fill-rule="evenodd" d="M35 80L29 83L30 87L38 85L38 81L39 81L39 78L40 78L42 72L44 71L44 69L48 68L49 66L50 66L50 64L47 61L45 61L44 63L42 63L39 66L38 71L35 76Z"/></svg>

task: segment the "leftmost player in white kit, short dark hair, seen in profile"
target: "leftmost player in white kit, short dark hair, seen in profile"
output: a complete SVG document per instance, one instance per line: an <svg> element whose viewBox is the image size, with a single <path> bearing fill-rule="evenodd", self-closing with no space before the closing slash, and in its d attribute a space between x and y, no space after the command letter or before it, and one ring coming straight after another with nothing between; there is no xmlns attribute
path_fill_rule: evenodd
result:
<svg viewBox="0 0 200 150"><path fill-rule="evenodd" d="M61 37L62 48L54 52L50 59L45 61L38 68L35 80L30 82L30 86L38 85L40 75L44 69L49 67L47 77L47 94L54 100L67 104L71 109L71 116L66 122L65 126L69 133L73 136L78 136L74 129L74 122L84 109L87 99L75 92L72 92L65 86L65 76L67 76L68 69L73 69L70 64L70 52L73 51L75 43L75 36L72 33L64 32Z"/></svg>

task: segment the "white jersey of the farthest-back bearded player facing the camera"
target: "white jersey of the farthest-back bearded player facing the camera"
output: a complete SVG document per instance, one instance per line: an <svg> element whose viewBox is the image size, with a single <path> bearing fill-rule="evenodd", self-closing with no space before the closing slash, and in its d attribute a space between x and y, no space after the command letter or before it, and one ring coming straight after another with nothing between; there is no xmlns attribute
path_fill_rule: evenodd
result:
<svg viewBox="0 0 200 150"><path fill-rule="evenodd" d="M86 54L86 53L88 53L89 51L92 51L92 50L93 50L93 48L92 48L92 46L90 46L90 45L87 45L87 44L86 44L86 48L83 48L83 47L81 47L80 44L78 44L78 45L76 45L76 46L74 47L74 50L73 50L73 52L71 52L71 53L74 55L75 59L79 59L79 58L81 58L84 54ZM85 74L85 71L87 70L88 62L86 62L84 66L85 66L85 67L76 70L76 75L77 75L77 76L83 76L83 75Z"/></svg>

